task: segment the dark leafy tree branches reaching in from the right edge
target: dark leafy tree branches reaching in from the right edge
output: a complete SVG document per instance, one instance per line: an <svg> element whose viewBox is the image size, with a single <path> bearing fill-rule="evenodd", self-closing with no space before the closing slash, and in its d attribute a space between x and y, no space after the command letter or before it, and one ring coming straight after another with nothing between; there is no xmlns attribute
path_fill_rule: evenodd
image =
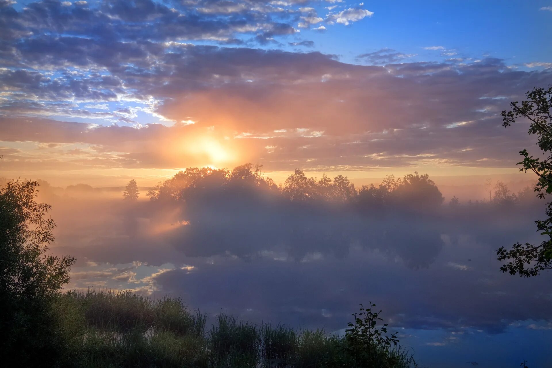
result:
<svg viewBox="0 0 552 368"><path fill-rule="evenodd" d="M545 156L535 158L523 150L519 152L523 160L518 163L522 166L520 171L530 170L538 175L534 190L539 198L545 198L552 193L552 87L533 88L527 92L527 100L521 104L512 102L510 106L512 110L502 111L502 125L509 126L519 118L528 119L529 134L537 135L537 146ZM552 201L546 204L546 216L545 220L535 221L540 234L546 237L538 246L516 243L512 249L497 250L497 259L507 261L500 268L503 272L530 277L552 269Z"/></svg>

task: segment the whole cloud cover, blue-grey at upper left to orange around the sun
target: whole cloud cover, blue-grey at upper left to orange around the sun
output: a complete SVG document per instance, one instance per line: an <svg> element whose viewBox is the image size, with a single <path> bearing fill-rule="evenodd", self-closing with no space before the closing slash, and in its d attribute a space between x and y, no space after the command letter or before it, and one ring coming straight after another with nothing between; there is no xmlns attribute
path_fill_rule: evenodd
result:
<svg viewBox="0 0 552 368"><path fill-rule="evenodd" d="M215 9L238 3L199 4ZM292 23L300 17L319 20L301 2L291 8L302 13L295 9L293 16L270 20L264 8L260 18L261 10L181 17L190 10L185 4L117 0L100 5L35 2L25 9L2 8L0 35L7 47L0 50L1 138L19 149L18 141L70 145L63 152L46 147L9 153L0 162L3 169L168 169L183 162L213 164L210 157L221 150L226 159L219 165L262 161L269 170L436 163L509 167L517 162L517 148L531 141L521 124L500 127L505 102L494 98L517 99L519 91L550 79L549 69L512 71L493 58L404 62L411 55L382 49L360 56L374 65L354 65L320 52L187 41L245 44L247 35L274 44L287 35L298 38ZM346 9L329 17L334 23L338 18L353 22L369 17L367 12ZM326 30L324 24L314 30ZM300 38L287 44L314 45ZM195 124L174 124L179 121ZM194 136L208 139L210 151L183 151L183 142L193 142Z"/></svg>

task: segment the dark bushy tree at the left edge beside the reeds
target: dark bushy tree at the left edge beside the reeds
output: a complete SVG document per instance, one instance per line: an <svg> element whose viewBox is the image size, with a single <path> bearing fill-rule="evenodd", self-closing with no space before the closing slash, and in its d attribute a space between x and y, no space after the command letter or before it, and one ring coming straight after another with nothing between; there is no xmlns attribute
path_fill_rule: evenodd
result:
<svg viewBox="0 0 552 368"><path fill-rule="evenodd" d="M37 182L0 189L0 360L54 366L65 344L51 302L69 281L72 257L46 255L55 223L50 206L35 201Z"/></svg>

